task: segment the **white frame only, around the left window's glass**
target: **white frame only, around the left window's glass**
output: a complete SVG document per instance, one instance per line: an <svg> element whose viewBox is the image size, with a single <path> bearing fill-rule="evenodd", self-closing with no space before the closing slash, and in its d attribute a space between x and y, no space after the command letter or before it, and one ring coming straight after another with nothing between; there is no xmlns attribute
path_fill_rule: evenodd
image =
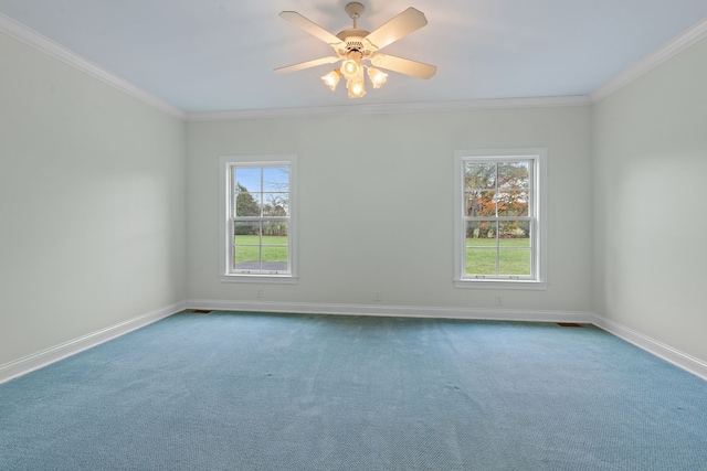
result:
<svg viewBox="0 0 707 471"><path fill-rule="evenodd" d="M233 260L232 191L234 167L288 167L289 168L289 221L287 254L288 272L243 272L231 268ZM220 256L219 277L223 282L297 282L297 156L223 156L220 159Z"/></svg>

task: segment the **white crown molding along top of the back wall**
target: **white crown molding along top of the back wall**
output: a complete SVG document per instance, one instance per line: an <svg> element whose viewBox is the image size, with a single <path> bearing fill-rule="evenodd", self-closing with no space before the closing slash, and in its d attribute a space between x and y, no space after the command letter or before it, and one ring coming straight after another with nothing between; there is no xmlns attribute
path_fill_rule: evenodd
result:
<svg viewBox="0 0 707 471"><path fill-rule="evenodd" d="M279 109L189 113L188 121L224 121L236 119L303 118L321 116L384 115L418 111L462 111L474 109L548 108L590 105L588 96L537 98L472 99L454 101L399 103L373 105L338 105Z"/></svg>

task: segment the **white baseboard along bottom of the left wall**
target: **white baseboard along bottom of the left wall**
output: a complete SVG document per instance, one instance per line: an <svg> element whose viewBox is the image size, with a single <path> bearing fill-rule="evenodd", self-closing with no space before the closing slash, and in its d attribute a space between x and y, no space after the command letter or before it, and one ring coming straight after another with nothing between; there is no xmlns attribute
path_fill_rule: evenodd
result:
<svg viewBox="0 0 707 471"><path fill-rule="evenodd" d="M187 309L181 301L0 365L0 384Z"/></svg>

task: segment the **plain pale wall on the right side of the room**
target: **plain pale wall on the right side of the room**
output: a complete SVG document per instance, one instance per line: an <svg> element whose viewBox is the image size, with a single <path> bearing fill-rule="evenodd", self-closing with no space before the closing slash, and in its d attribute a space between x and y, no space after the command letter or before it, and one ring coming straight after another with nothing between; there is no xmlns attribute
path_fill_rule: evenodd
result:
<svg viewBox="0 0 707 471"><path fill-rule="evenodd" d="M707 40L594 106L597 311L707 362Z"/></svg>

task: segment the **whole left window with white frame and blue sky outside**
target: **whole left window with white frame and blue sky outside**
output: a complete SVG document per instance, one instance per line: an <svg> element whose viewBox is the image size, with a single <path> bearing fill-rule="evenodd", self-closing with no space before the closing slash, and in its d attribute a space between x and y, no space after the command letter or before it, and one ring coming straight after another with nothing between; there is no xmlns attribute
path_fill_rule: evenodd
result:
<svg viewBox="0 0 707 471"><path fill-rule="evenodd" d="M294 282L295 156L221 158L221 279Z"/></svg>

